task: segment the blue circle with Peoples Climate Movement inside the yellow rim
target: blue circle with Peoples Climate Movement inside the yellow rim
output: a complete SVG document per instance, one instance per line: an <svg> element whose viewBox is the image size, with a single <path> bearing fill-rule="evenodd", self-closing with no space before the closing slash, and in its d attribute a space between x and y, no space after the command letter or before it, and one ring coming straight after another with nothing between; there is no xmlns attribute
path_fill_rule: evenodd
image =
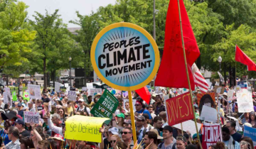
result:
<svg viewBox="0 0 256 149"><path fill-rule="evenodd" d="M132 87L151 75L155 53L143 33L134 28L118 27L100 38L95 48L95 62L109 82Z"/></svg>

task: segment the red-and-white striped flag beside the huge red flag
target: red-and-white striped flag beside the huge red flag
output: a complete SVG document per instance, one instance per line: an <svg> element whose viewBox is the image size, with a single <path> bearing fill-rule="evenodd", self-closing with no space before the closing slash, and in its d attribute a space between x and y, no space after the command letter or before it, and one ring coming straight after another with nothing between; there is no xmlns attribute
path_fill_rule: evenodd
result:
<svg viewBox="0 0 256 149"><path fill-rule="evenodd" d="M200 89L202 93L206 93L208 91L209 85L195 63L192 66L192 71L196 86Z"/></svg>

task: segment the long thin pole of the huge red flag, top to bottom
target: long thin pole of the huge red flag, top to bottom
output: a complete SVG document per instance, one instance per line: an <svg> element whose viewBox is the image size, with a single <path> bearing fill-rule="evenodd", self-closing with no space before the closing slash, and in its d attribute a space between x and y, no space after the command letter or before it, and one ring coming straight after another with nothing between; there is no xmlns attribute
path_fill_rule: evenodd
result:
<svg viewBox="0 0 256 149"><path fill-rule="evenodd" d="M183 48L183 56L184 56L184 61L185 61L185 66L186 66L186 76L188 79L188 87L189 87L189 93L190 93L190 97L191 97L191 106L193 108L193 116L194 116L194 121L195 121L195 125L196 125L196 133L197 133L197 138L198 138L198 143L200 145L200 148L202 148L201 145L201 141L199 138L199 131L198 131L198 126L196 123L196 116L195 116L195 109L193 107L193 96L192 96L192 91L191 91L191 83L190 83L190 79L189 79L189 75L188 75L188 66L187 66L187 62L186 62L186 52L185 52L185 45L184 45L184 39L183 39L183 30L182 30L182 21L181 21L181 8L180 8L180 4L179 4L179 0L178 1L178 16L179 16L179 21L180 21L180 26L181 26L181 40L182 40L182 48Z"/></svg>

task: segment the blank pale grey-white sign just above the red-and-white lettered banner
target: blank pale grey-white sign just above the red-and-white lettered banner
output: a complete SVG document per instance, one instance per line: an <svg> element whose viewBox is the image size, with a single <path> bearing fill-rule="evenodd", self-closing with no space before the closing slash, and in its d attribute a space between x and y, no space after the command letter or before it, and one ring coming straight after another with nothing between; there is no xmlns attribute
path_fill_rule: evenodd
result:
<svg viewBox="0 0 256 149"><path fill-rule="evenodd" d="M209 106L204 106L201 111L200 119L203 121L215 123L218 120L217 110Z"/></svg>

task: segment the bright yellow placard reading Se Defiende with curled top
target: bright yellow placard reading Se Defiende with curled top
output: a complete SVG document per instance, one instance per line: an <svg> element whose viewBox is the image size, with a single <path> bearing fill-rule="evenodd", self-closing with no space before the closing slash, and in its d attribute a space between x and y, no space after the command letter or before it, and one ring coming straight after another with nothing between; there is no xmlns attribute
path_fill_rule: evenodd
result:
<svg viewBox="0 0 256 149"><path fill-rule="evenodd" d="M102 134L99 131L107 120L110 118L71 116L65 121L65 138L101 143Z"/></svg>

